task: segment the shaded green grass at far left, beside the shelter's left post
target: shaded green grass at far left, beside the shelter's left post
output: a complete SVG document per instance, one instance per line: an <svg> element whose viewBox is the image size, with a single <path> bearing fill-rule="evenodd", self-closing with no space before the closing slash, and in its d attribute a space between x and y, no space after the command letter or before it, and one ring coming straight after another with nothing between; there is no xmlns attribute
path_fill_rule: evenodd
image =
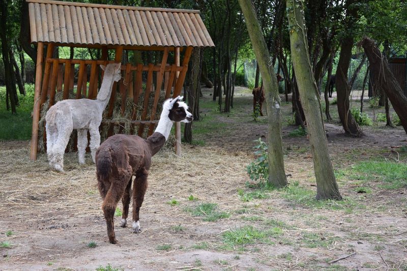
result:
<svg viewBox="0 0 407 271"><path fill-rule="evenodd" d="M19 95L17 114L6 109L6 87L0 87L0 140L28 140L31 138L34 106L34 85L25 85L26 96Z"/></svg>

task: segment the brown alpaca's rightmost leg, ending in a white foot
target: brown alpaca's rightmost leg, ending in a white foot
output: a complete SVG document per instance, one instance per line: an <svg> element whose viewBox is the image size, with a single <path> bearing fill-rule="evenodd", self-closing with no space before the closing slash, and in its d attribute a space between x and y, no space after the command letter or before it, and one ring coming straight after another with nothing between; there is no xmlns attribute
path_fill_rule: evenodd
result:
<svg viewBox="0 0 407 271"><path fill-rule="evenodd" d="M149 173L142 169L136 173L133 184L133 232L140 233L139 212L147 190L147 177Z"/></svg>

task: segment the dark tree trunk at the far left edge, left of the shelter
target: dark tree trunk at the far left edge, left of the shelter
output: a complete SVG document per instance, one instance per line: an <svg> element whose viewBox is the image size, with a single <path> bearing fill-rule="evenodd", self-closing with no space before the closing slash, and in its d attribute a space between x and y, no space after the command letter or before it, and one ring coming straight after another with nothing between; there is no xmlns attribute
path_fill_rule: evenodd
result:
<svg viewBox="0 0 407 271"><path fill-rule="evenodd" d="M17 90L15 85L15 80L13 80L13 66L10 63L9 58L9 43L7 39L7 17L8 17L8 5L7 1L0 0L0 39L2 40L2 58L4 65L4 79L6 84L6 100L7 93L10 98L11 113L16 114L16 106L18 103ZM14 87L13 87L14 86ZM17 99L16 99L17 97ZM7 103L7 101L6 101Z"/></svg>

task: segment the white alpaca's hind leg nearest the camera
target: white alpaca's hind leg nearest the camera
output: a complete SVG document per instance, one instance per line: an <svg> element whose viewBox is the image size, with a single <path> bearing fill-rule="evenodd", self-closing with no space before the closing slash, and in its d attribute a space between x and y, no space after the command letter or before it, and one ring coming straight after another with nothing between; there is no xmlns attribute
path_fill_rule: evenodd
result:
<svg viewBox="0 0 407 271"><path fill-rule="evenodd" d="M72 118L65 119L65 121L61 122L57 127L57 130L58 138L56 139L55 144L53 146L53 153L55 158L53 167L57 171L64 171L64 153L73 130Z"/></svg>

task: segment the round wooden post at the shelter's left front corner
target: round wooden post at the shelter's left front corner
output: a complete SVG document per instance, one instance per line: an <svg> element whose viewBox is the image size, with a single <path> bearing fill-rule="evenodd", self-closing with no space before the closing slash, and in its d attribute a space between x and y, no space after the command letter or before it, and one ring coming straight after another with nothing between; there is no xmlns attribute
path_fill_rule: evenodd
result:
<svg viewBox="0 0 407 271"><path fill-rule="evenodd" d="M44 54L44 44L38 42L37 46L37 64L35 72L35 90L34 90L34 109L33 109L33 130L31 133L31 153L30 159L37 160L37 144L38 144L38 123L40 122L40 92L42 79L42 56Z"/></svg>

